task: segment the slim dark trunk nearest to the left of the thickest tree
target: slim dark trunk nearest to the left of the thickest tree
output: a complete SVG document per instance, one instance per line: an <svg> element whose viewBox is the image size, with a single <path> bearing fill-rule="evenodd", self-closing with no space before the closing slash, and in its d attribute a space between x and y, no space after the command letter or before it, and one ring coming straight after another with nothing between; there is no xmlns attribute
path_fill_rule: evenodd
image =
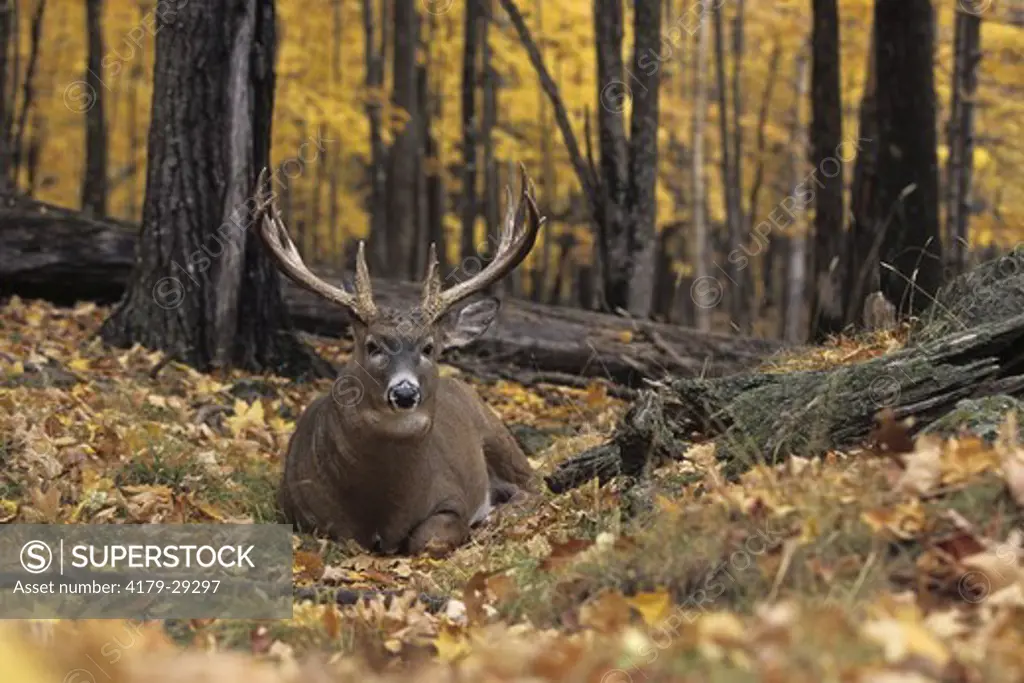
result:
<svg viewBox="0 0 1024 683"><path fill-rule="evenodd" d="M85 86L92 105L85 113L85 173L82 178L82 211L101 218L106 215L106 121L103 116L103 84L99 80L103 58L103 0L86 0L85 27L89 41Z"/></svg>

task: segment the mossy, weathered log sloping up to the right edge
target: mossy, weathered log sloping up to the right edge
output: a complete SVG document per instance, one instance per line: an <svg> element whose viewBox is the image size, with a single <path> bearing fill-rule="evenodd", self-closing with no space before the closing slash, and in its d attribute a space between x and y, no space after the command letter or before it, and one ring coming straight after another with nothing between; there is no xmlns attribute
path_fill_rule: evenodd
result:
<svg viewBox="0 0 1024 683"><path fill-rule="evenodd" d="M916 431L965 398L1024 394L1024 315L825 371L677 379L640 393L606 443L563 463L555 493L637 476L715 439L728 475L862 442L885 408Z"/></svg>

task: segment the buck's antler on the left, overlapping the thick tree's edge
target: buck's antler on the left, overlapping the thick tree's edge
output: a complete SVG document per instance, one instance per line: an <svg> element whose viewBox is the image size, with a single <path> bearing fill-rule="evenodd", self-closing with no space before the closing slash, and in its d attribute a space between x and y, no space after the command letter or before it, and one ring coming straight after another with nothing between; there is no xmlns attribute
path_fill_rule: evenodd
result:
<svg viewBox="0 0 1024 683"><path fill-rule="evenodd" d="M268 191L266 168L260 172L256 188L255 219L260 222L259 234L282 272L299 287L345 307L365 324L376 317L377 305L370 287L370 269L367 268L362 241L359 241L359 252L355 259L355 292L350 293L321 280L302 262L299 250L295 248L295 243L288 236L288 228L281 219L276 198L272 191Z"/></svg>

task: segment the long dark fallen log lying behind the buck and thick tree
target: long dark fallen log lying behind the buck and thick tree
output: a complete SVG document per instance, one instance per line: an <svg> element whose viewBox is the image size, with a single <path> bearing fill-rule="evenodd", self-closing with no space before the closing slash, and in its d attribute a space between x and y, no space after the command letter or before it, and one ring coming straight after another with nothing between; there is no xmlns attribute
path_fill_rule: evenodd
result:
<svg viewBox="0 0 1024 683"><path fill-rule="evenodd" d="M73 211L20 201L0 208L0 297L17 294L59 304L117 301L134 265L137 228L95 221ZM325 279L339 282L318 268ZM345 312L285 281L285 300L299 330L341 337ZM375 280L380 304L419 300L412 283ZM604 378L625 386L666 375L717 376L751 368L777 351L771 340L695 330L574 308L506 299L498 323L478 342L453 354L457 366L507 367L506 372Z"/></svg>

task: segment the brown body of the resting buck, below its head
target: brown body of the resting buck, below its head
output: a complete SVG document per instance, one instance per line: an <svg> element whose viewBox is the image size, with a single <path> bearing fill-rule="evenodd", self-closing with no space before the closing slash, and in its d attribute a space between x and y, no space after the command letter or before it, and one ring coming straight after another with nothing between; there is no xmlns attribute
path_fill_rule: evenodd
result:
<svg viewBox="0 0 1024 683"><path fill-rule="evenodd" d="M442 379L431 429L392 440L358 410L319 397L289 444L279 499L286 517L383 552L465 543L512 486L532 487L525 456L484 411L472 388Z"/></svg>

